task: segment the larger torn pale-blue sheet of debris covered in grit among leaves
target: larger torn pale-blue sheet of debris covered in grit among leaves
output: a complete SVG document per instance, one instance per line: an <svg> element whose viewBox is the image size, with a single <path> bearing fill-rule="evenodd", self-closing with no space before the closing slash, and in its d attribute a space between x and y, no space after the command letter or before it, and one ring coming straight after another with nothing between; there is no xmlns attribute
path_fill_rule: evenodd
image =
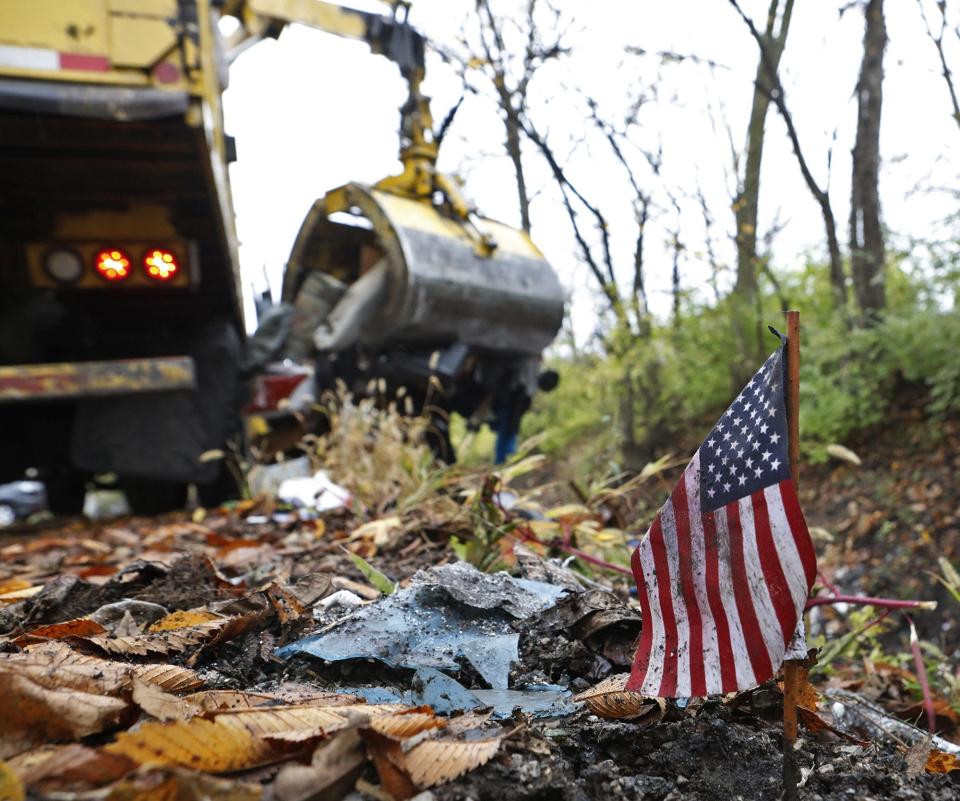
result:
<svg viewBox="0 0 960 801"><path fill-rule="evenodd" d="M458 659L466 659L487 684L506 689L519 642L510 624L553 606L564 592L456 562L419 571L410 586L277 655L306 653L329 662L378 659L395 668L450 672L460 669Z"/></svg>

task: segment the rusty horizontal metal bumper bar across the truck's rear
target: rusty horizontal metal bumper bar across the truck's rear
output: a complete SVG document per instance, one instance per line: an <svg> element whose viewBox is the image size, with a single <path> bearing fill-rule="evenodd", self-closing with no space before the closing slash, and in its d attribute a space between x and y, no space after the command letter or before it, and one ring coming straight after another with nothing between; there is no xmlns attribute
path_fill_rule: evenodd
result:
<svg viewBox="0 0 960 801"><path fill-rule="evenodd" d="M0 367L0 403L195 388L189 356Z"/></svg>

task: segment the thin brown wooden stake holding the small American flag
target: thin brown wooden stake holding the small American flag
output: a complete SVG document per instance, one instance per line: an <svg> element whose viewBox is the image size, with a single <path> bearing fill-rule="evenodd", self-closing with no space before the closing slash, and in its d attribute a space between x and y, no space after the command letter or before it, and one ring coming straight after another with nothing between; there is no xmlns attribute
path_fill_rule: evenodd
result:
<svg viewBox="0 0 960 801"><path fill-rule="evenodd" d="M800 312L787 312L787 441L790 446L790 478L800 486ZM802 613L801 613L802 614ZM783 663L783 797L797 799L797 694L799 665L793 659Z"/></svg>

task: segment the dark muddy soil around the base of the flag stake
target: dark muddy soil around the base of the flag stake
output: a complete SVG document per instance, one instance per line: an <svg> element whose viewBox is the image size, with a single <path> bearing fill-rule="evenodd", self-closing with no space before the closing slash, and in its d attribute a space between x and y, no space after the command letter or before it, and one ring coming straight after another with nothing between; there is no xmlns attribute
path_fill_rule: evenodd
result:
<svg viewBox="0 0 960 801"><path fill-rule="evenodd" d="M960 797L947 776L908 777L890 750L810 737L799 745L802 801ZM720 705L648 729L579 715L533 723L498 759L433 793L438 801L775 801L782 765L777 725Z"/></svg>

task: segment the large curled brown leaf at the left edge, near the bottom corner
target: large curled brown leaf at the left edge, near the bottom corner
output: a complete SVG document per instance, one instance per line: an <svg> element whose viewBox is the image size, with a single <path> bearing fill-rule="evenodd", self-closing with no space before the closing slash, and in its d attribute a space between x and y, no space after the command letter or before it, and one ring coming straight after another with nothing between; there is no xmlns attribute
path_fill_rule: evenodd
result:
<svg viewBox="0 0 960 801"><path fill-rule="evenodd" d="M75 689L49 689L0 671L0 758L30 743L86 737L119 724L126 701Z"/></svg>

